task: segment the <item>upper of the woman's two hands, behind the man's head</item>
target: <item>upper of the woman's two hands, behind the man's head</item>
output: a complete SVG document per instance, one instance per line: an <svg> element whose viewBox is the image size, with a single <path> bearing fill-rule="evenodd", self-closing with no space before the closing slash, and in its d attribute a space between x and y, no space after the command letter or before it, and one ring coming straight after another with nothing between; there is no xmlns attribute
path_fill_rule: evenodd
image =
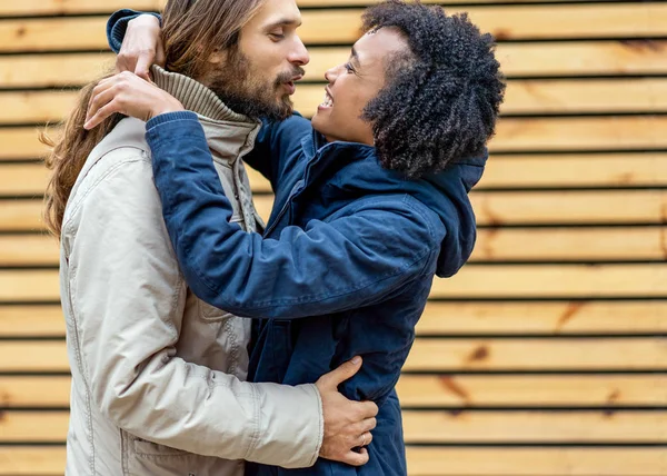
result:
<svg viewBox="0 0 667 476"><path fill-rule="evenodd" d="M152 14L141 14L130 20L116 58L116 72L130 71L150 81L151 65L165 66L165 61L158 19Z"/></svg>

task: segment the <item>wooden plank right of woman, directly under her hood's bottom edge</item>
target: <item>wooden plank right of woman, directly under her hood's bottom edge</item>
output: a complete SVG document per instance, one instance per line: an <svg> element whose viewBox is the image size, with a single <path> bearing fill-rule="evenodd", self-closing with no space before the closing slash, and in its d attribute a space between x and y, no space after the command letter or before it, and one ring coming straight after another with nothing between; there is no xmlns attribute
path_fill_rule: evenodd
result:
<svg viewBox="0 0 667 476"><path fill-rule="evenodd" d="M439 298L667 297L667 265L469 265L437 279Z"/></svg>

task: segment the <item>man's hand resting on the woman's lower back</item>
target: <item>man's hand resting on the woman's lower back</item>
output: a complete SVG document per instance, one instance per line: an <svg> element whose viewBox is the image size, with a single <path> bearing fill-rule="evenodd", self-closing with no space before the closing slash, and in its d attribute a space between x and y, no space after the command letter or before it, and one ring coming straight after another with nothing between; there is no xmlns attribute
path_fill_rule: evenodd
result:
<svg viewBox="0 0 667 476"><path fill-rule="evenodd" d="M316 385L322 398L325 411L325 439L320 456L326 459L362 466L368 463L368 450L364 448L372 440L378 406L372 401L348 400L338 391L338 386L351 378L361 368L361 358L342 364L322 375ZM352 450L361 447L359 453Z"/></svg>

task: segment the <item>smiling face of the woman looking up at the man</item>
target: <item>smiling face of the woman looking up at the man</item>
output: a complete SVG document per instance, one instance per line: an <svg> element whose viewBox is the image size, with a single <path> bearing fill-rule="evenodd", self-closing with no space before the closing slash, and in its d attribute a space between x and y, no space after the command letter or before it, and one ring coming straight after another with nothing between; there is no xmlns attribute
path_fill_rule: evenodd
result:
<svg viewBox="0 0 667 476"><path fill-rule="evenodd" d="M349 61L326 72L325 100L312 118L312 127L328 141L372 145L372 125L361 112L385 86L387 60L405 51L408 43L395 28L368 32L352 47Z"/></svg>

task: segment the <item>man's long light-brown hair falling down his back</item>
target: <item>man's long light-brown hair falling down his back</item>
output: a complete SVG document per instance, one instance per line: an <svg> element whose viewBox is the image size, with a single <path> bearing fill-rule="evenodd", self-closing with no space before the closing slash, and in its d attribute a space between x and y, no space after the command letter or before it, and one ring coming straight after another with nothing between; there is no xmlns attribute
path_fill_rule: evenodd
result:
<svg viewBox="0 0 667 476"><path fill-rule="evenodd" d="M168 71L200 79L210 68L208 59L216 50L238 47L241 28L252 19L266 0L169 0L162 13L162 41ZM62 132L52 140L46 132L40 140L51 147L44 159L52 170L44 196L43 218L48 230L60 238L62 217L77 177L92 149L120 120L107 118L92 130L83 129L88 103L97 83L81 89L77 106L62 122Z"/></svg>

